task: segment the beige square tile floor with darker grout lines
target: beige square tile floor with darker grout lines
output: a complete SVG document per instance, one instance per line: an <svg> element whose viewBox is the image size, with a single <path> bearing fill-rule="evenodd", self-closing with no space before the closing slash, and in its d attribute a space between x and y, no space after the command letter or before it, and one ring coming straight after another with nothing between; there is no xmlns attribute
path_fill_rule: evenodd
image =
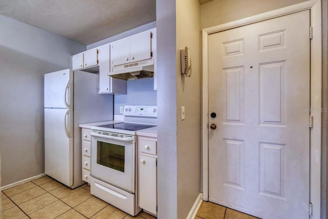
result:
<svg viewBox="0 0 328 219"><path fill-rule="evenodd" d="M90 186L84 184L70 189L49 176L6 189L1 192L2 218L100 218L100 219L154 219L145 212L137 216L115 208L90 194ZM196 219L257 219L210 202L202 202ZM169 219L169 218L168 218Z"/></svg>

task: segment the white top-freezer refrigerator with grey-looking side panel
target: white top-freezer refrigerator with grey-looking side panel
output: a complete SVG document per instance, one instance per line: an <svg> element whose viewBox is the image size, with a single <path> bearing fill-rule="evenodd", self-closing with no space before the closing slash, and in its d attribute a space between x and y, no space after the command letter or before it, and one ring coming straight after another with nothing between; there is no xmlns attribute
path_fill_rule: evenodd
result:
<svg viewBox="0 0 328 219"><path fill-rule="evenodd" d="M80 123L113 120L113 96L99 75L66 69L45 74L45 173L71 188L82 180Z"/></svg>

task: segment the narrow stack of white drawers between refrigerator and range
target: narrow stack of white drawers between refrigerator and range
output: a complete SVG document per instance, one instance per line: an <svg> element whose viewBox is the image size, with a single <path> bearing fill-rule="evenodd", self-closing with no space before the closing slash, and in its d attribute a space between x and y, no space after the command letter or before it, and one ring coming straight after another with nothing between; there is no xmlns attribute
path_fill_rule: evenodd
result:
<svg viewBox="0 0 328 219"><path fill-rule="evenodd" d="M91 130L82 129L82 180L90 183Z"/></svg>

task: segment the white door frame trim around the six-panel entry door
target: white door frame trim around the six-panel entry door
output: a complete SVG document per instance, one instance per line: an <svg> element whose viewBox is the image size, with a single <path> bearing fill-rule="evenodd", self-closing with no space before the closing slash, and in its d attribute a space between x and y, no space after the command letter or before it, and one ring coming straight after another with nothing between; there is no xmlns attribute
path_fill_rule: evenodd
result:
<svg viewBox="0 0 328 219"><path fill-rule="evenodd" d="M303 11L311 10L312 39L310 41L311 54L311 84L310 96L312 109L321 108L321 0L310 0L296 5L280 8L239 19L237 21L221 24L218 26L202 29L202 195L203 200L209 200L209 136L208 136L208 114L209 114L209 71L208 71L208 35L236 27L253 24L267 19ZM310 31L310 30L309 30ZM313 116L313 127L310 129L310 202L312 203L312 218L320 218L321 197L321 111L311 110Z"/></svg>

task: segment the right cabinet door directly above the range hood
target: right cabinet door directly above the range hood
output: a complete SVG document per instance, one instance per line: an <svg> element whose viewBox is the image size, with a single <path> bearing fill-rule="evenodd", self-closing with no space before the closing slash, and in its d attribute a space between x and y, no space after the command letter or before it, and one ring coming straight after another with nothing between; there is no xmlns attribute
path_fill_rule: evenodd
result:
<svg viewBox="0 0 328 219"><path fill-rule="evenodd" d="M142 32L130 37L130 62L151 58L151 31Z"/></svg>

